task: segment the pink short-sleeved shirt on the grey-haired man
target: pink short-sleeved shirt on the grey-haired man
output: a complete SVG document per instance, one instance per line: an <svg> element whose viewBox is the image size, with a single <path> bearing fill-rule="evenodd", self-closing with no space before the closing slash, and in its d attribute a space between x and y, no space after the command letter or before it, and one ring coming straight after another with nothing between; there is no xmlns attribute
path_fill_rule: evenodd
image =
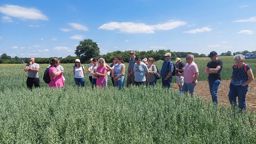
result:
<svg viewBox="0 0 256 144"><path fill-rule="evenodd" d="M198 72L199 71L197 68L197 64L194 63L194 61L191 64L187 64L183 72L185 83L192 83L192 81L194 80L195 73ZM197 80L195 81L195 83L197 83Z"/></svg>

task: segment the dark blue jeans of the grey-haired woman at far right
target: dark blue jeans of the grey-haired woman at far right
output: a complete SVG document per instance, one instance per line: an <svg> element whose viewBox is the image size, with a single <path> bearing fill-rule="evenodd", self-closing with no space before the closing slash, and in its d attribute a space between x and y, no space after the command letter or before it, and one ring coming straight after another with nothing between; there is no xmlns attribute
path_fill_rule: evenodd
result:
<svg viewBox="0 0 256 144"><path fill-rule="evenodd" d="M230 104L237 106L236 98L238 97L238 104L240 110L246 110L245 95L247 94L248 86L249 85L243 87L241 85L233 85L230 83L228 93L228 99Z"/></svg>

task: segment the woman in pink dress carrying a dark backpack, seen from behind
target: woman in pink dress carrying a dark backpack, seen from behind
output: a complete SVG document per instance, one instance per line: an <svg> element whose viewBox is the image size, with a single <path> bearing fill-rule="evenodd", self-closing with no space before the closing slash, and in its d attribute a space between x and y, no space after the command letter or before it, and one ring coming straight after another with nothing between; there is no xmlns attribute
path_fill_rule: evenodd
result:
<svg viewBox="0 0 256 144"><path fill-rule="evenodd" d="M48 84L49 87L63 87L65 85L63 79L63 71L59 70L57 66L59 66L59 59L53 58L50 61L50 68L49 68L49 76L51 78L51 82Z"/></svg>

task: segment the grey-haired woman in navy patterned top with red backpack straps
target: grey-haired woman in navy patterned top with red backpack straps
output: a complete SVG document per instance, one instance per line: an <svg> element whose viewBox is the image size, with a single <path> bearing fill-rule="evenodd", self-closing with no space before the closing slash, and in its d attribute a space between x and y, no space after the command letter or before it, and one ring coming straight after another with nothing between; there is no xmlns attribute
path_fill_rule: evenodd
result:
<svg viewBox="0 0 256 144"><path fill-rule="evenodd" d="M244 64L244 56L236 54L234 56L235 65L233 66L232 80L229 86L228 99L231 105L237 106L236 98L238 97L238 106L240 110L246 110L245 95L248 91L249 83L254 80L254 74L251 67Z"/></svg>

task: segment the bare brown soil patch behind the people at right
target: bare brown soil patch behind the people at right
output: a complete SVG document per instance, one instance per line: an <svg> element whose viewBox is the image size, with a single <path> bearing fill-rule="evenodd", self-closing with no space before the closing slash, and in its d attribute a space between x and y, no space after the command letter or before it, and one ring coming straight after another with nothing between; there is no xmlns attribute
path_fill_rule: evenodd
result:
<svg viewBox="0 0 256 144"><path fill-rule="evenodd" d="M218 90L218 100L220 103L225 103L228 106L230 103L228 101L228 92L229 92L229 84L230 80L221 80L220 87ZM178 91L178 85L175 83L173 84L174 89ZM209 85L207 81L199 81L195 87L195 94L200 94L202 99L211 100L211 94L209 91ZM247 111L254 110L256 111L256 80L252 81L249 84L249 89L246 94L246 106Z"/></svg>

